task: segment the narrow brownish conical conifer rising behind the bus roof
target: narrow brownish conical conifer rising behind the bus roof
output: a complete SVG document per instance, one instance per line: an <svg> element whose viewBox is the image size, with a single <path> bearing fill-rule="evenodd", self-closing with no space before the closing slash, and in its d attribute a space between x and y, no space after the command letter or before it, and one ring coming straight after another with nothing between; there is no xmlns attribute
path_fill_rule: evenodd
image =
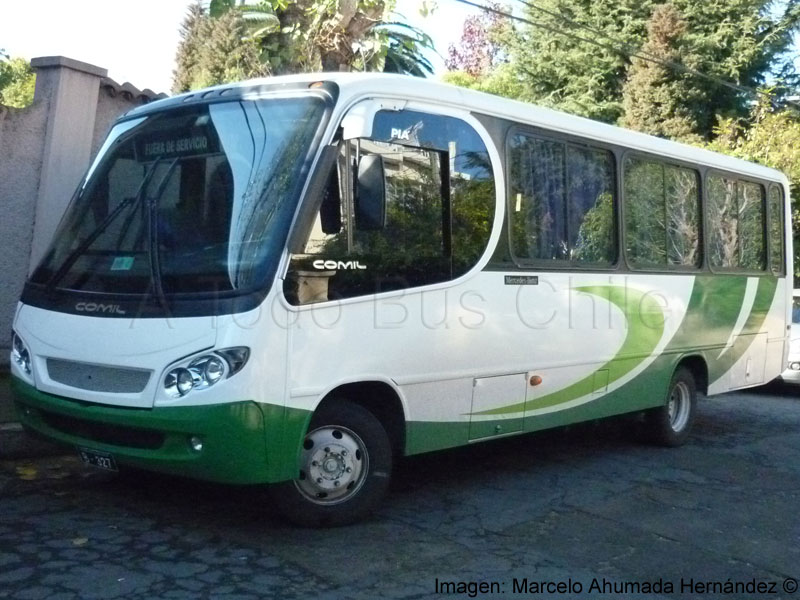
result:
<svg viewBox="0 0 800 600"><path fill-rule="evenodd" d="M659 4L647 23L647 41L640 52L664 62L687 62L683 36L688 26L672 4ZM691 75L666 64L634 58L622 91L621 124L651 135L699 142L709 131L706 88L691 85Z"/></svg>

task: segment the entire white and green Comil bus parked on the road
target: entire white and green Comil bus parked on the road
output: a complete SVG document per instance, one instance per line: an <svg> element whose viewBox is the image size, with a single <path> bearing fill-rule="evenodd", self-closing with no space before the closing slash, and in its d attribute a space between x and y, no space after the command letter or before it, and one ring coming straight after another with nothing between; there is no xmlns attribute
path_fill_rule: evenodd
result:
<svg viewBox="0 0 800 600"><path fill-rule="evenodd" d="M27 281L22 423L93 465L374 508L397 458L768 382L779 172L388 75L276 77L114 125Z"/></svg>

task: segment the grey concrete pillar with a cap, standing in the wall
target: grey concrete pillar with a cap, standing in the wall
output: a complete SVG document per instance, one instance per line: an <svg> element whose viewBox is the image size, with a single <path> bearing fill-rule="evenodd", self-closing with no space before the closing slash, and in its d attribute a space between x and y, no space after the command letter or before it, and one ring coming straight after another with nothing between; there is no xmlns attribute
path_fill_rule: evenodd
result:
<svg viewBox="0 0 800 600"><path fill-rule="evenodd" d="M34 58L35 98L49 104L29 272L41 260L88 167L106 69L64 56Z"/></svg>

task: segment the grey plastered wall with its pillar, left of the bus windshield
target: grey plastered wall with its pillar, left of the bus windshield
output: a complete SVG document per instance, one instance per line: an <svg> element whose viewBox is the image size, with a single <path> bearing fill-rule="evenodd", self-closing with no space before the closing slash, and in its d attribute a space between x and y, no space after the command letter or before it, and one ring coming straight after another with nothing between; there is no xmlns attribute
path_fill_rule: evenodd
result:
<svg viewBox="0 0 800 600"><path fill-rule="evenodd" d="M0 106L0 369L22 286L114 120L162 97L63 56L35 58L33 104Z"/></svg>

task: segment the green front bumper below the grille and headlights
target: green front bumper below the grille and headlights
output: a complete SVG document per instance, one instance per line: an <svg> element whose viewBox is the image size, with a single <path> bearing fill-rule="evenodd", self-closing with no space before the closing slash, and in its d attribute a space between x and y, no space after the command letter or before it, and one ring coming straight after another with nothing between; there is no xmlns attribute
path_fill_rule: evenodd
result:
<svg viewBox="0 0 800 600"><path fill-rule="evenodd" d="M120 465L220 483L275 479L259 403L120 408L46 394L16 377L11 383L23 426L76 448L112 454ZM201 451L190 447L192 436L202 439Z"/></svg>

